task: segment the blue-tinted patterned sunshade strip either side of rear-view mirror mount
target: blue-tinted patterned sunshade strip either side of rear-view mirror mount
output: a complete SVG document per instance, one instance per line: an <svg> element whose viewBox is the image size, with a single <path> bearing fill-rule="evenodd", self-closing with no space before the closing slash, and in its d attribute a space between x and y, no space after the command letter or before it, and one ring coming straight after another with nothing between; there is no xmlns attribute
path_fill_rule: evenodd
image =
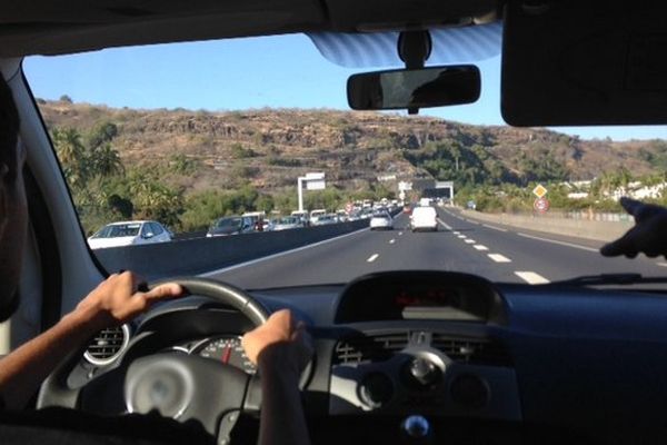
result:
<svg viewBox="0 0 667 445"><path fill-rule="evenodd" d="M346 68L402 67L398 57L398 32L311 32L320 53ZM427 65L475 62L500 53L502 24L491 22L430 30L432 50Z"/></svg>

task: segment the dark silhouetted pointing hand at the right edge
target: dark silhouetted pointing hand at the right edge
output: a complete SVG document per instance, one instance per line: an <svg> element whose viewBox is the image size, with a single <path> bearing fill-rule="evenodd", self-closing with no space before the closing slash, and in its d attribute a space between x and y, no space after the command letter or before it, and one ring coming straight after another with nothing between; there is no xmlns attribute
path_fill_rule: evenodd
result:
<svg viewBox="0 0 667 445"><path fill-rule="evenodd" d="M625 255L635 258L637 254L649 257L667 256L667 208L620 198L620 205L635 217L635 227L623 237L600 248L606 257Z"/></svg>

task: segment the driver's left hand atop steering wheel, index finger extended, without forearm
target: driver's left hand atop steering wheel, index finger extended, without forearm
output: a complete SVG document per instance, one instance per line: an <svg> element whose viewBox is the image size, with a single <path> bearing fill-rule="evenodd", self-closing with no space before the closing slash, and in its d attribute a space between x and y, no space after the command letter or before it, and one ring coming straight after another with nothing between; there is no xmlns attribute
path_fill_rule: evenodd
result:
<svg viewBox="0 0 667 445"><path fill-rule="evenodd" d="M183 294L176 283L167 283L149 291L139 291L143 280L131 271L112 274L79 303L74 314L94 333L121 325L147 310L153 303Z"/></svg>

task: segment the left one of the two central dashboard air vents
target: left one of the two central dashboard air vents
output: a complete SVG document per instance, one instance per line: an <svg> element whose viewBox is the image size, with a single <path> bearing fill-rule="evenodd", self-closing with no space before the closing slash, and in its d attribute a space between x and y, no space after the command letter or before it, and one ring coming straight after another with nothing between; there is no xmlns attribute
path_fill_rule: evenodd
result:
<svg viewBox="0 0 667 445"><path fill-rule="evenodd" d="M336 345L335 364L384 362L408 345L408 333L354 337Z"/></svg>

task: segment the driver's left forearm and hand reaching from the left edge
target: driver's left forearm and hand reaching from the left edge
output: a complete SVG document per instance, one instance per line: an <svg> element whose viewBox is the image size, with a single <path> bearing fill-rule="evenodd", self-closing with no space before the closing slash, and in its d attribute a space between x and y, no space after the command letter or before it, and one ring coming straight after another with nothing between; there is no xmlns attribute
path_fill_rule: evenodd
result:
<svg viewBox="0 0 667 445"><path fill-rule="evenodd" d="M0 359L4 408L22 408L60 360L99 330L130 320L155 301L182 294L177 284L165 284L148 293L137 291L138 284L132 273L111 275L53 327Z"/></svg>

